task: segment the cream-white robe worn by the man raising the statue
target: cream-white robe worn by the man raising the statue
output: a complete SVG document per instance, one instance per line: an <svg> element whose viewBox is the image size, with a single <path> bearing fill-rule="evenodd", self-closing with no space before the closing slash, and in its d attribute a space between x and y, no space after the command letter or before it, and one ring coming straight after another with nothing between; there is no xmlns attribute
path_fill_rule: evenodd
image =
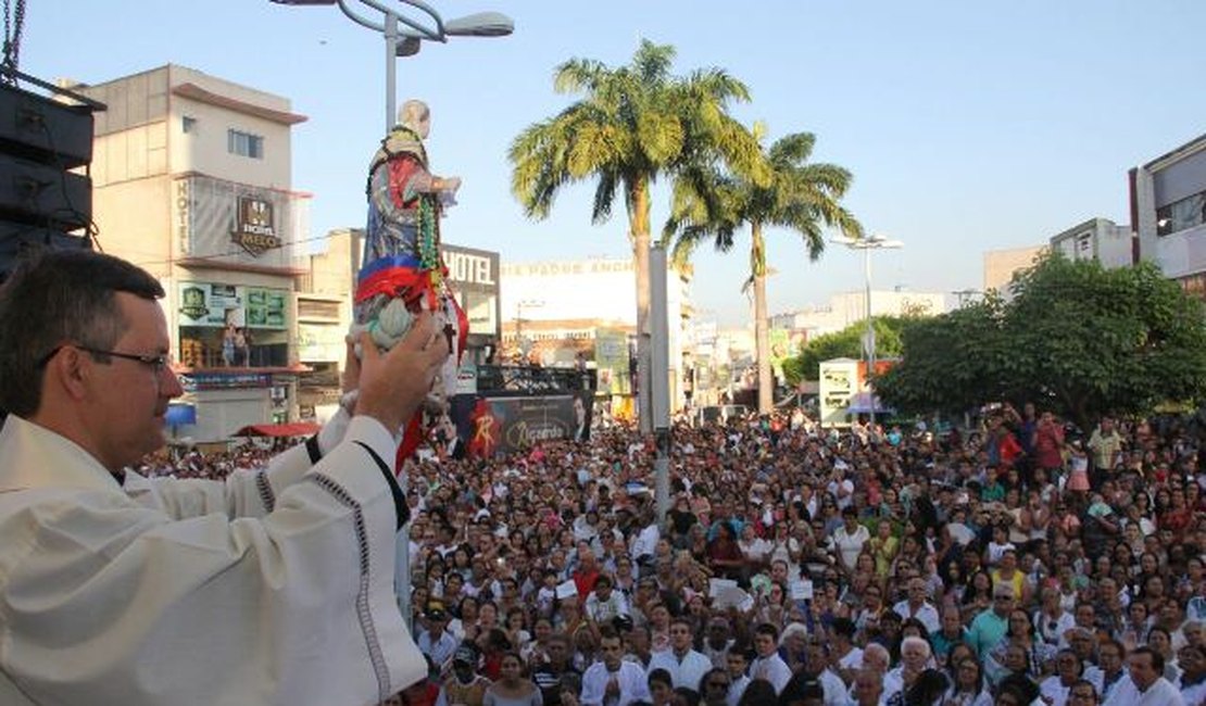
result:
<svg viewBox="0 0 1206 706"><path fill-rule="evenodd" d="M74 442L0 430L0 704L376 704L426 673L393 593L397 514L336 414L227 481L124 487ZM346 435L345 435L346 431Z"/></svg>

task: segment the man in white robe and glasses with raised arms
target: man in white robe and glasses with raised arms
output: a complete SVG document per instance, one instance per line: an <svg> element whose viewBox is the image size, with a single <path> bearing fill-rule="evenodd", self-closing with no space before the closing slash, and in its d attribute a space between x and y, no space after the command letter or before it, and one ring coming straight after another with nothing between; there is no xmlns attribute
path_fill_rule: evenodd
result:
<svg viewBox="0 0 1206 706"><path fill-rule="evenodd" d="M0 288L0 704L376 704L421 678L387 459L447 355L431 317L349 355L355 416L267 469L147 480L124 469L182 393L162 296L90 252Z"/></svg>

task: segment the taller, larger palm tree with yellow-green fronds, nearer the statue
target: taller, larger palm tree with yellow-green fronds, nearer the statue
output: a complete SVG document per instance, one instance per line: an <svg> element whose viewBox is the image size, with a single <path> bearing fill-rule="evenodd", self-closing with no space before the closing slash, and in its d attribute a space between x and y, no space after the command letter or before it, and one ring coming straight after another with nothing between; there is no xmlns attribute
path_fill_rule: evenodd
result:
<svg viewBox="0 0 1206 706"><path fill-rule="evenodd" d="M617 192L628 213L628 240L636 260L638 414L651 429L649 405L649 207L661 176L672 180L716 159L757 178L761 152L740 123L727 113L749 90L720 69L686 77L671 72L674 48L642 40L632 61L609 67L570 59L557 67L554 88L582 98L556 116L526 128L511 143L511 190L531 218L545 218L566 184L595 178L591 219L611 216Z"/></svg>

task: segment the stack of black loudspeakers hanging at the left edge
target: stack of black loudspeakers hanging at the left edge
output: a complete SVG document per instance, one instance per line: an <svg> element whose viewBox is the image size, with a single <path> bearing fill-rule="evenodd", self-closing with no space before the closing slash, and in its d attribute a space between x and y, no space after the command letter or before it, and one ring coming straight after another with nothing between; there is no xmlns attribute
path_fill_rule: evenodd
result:
<svg viewBox="0 0 1206 706"><path fill-rule="evenodd" d="M54 98L24 90L16 78ZM0 281L31 248L92 247L93 112L105 106L5 72L0 83Z"/></svg>

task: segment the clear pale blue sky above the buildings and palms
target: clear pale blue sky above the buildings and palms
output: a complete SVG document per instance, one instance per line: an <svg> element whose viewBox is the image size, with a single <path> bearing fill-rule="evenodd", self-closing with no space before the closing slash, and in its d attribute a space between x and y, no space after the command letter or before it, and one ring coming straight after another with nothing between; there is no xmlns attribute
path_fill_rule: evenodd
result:
<svg viewBox="0 0 1206 706"><path fill-rule="evenodd" d="M381 0L397 2L397 0ZM363 7L356 0L352 6ZM1126 170L1206 131L1200 0L434 0L445 17L496 10L505 39L453 39L398 61L399 102L433 110L435 171L464 180L445 239L504 261L624 257L620 210L590 223L589 184L552 216L526 219L507 148L569 104L552 90L572 57L619 65L642 37L678 49L675 69L720 66L753 102L734 107L771 137L818 136L816 160L855 175L848 207L904 241L876 255L877 288L978 288L983 253L1046 241L1091 217L1126 224ZM371 16L371 11L367 11ZM364 167L385 120L380 35L335 7L268 0L33 1L21 67L100 82L166 63L288 96L293 188L315 194L315 234L363 223ZM665 193L654 222L667 213ZM748 239L701 251L695 299L736 325ZM769 234L772 312L860 288L861 259L832 246L809 263L798 237Z"/></svg>

